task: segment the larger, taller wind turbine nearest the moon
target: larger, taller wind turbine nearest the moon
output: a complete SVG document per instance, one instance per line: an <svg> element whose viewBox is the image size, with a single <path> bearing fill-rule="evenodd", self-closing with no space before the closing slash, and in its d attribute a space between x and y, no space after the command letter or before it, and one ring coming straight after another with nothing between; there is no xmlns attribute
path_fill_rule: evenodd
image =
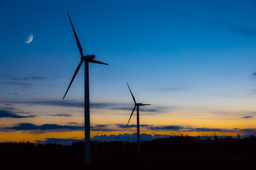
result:
<svg viewBox="0 0 256 170"><path fill-rule="evenodd" d="M68 14L68 18L70 19L70 16ZM81 55L81 61L78 64L78 68L75 70L75 74L73 75L70 84L68 85L68 89L70 89L70 86L75 79L76 74L78 74L78 71L82 65L82 62L85 62L85 164L90 164L90 96L89 96L89 68L88 64L89 62L97 63L97 64L105 64L104 62L99 62L97 60L94 60L95 55L86 55L84 56L82 54L82 47L78 40L78 35L75 33L75 29L73 27L73 23L70 19L70 23L75 35L75 40L78 44L78 49ZM65 95L63 96L63 99L65 98L66 94L68 93L68 89L65 92Z"/></svg>

